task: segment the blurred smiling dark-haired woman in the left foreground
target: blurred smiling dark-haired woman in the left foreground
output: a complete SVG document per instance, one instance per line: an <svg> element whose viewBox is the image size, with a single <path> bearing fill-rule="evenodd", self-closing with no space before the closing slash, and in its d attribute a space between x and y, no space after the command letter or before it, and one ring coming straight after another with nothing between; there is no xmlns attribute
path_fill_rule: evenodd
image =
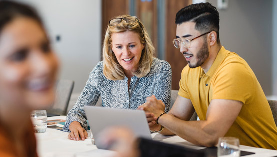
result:
<svg viewBox="0 0 277 157"><path fill-rule="evenodd" d="M30 112L54 101L57 68L37 13L0 1L0 157L37 157Z"/></svg>

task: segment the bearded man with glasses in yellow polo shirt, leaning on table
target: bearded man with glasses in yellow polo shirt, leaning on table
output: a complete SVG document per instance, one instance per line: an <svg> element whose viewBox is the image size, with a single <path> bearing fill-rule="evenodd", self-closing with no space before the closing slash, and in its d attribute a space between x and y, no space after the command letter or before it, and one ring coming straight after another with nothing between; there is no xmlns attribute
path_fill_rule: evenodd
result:
<svg viewBox="0 0 277 157"><path fill-rule="evenodd" d="M277 127L266 96L246 61L221 45L216 8L210 3L187 6L175 23L173 44L188 65L169 113L163 113L165 106L155 96L139 107L147 111L150 129L206 147L233 136L242 145L277 149ZM200 121L188 121L194 111Z"/></svg>

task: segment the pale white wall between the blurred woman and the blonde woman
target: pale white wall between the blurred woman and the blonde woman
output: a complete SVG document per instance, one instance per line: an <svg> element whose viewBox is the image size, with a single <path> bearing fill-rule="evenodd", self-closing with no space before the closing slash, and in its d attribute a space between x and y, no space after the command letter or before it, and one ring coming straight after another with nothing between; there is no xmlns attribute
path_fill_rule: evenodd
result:
<svg viewBox="0 0 277 157"><path fill-rule="evenodd" d="M38 10L61 61L59 78L74 80L73 94L79 94L100 61L101 0L17 1ZM57 35L60 41L56 41Z"/></svg>

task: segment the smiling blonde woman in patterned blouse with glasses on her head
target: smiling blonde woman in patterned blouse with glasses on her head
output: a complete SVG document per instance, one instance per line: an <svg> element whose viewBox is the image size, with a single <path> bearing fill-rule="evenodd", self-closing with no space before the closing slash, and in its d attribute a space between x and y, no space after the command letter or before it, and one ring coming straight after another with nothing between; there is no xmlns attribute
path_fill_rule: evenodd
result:
<svg viewBox="0 0 277 157"><path fill-rule="evenodd" d="M109 21L103 61L92 70L67 115L64 131L70 131L69 139L87 138L83 107L95 105L99 96L103 107L135 110L146 102L146 97L155 95L166 105L165 111L169 110L171 67L168 62L154 58L153 53L151 39L137 17L121 15Z"/></svg>

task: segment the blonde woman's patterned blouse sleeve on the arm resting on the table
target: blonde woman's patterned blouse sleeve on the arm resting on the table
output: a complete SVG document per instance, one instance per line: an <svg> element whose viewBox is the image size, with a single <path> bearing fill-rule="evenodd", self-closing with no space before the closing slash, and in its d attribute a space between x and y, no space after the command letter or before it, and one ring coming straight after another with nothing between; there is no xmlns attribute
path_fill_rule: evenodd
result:
<svg viewBox="0 0 277 157"><path fill-rule="evenodd" d="M77 121L81 124L81 126L87 130L87 118L84 111L85 105L95 105L100 96L99 90L96 88L97 85L97 66L90 73L87 83L81 92L81 95L78 97L77 102L74 107L69 110L66 122L63 127L63 131L70 132L69 125L73 121Z"/></svg>

